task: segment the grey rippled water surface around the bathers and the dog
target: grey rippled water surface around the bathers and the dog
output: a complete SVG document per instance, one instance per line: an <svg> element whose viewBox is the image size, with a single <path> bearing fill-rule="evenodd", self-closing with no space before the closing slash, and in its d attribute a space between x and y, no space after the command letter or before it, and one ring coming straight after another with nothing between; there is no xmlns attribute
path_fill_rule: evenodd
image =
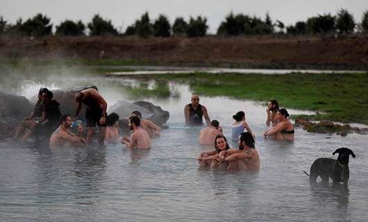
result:
<svg viewBox="0 0 368 222"><path fill-rule="evenodd" d="M120 89L127 84L123 79L72 82L98 85L110 105L126 99ZM31 98L39 86L26 83L21 93ZM53 85L59 87L65 85ZM367 135L340 137L296 129L293 143L263 139L263 104L201 96L227 137L232 115L246 112L256 134L260 172L199 170L195 157L208 148L199 146L201 128L183 123L190 89L170 87L180 92L178 98L147 99L170 112L169 129L153 140L150 151L132 152L117 144L50 151L0 141L0 220L367 221ZM349 191L332 185L310 187L302 171L309 171L318 157L333 157L342 146L356 153L356 159L350 159Z"/></svg>

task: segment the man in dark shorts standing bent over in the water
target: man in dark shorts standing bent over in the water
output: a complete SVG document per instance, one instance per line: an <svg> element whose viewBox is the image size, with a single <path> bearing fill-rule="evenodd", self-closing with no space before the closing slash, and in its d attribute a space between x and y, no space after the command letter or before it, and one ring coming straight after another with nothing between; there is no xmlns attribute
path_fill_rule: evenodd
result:
<svg viewBox="0 0 368 222"><path fill-rule="evenodd" d="M108 108L108 103L106 103L101 94L93 88L76 92L76 94L74 94L74 101L78 103L74 120L77 119L79 112L81 112L82 103L87 105L87 110L85 111L85 119L87 121L87 144L92 140L94 128L97 123L97 126L99 126L99 144L102 145L106 134L106 109Z"/></svg>

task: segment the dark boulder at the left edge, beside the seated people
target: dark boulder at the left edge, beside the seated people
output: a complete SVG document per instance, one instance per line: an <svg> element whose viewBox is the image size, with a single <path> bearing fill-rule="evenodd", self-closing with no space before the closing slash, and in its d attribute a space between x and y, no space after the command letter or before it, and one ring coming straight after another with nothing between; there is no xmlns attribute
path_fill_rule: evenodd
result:
<svg viewBox="0 0 368 222"><path fill-rule="evenodd" d="M34 108L26 97L15 94L7 94L0 91L0 112L2 117L13 117L21 120L27 117Z"/></svg>

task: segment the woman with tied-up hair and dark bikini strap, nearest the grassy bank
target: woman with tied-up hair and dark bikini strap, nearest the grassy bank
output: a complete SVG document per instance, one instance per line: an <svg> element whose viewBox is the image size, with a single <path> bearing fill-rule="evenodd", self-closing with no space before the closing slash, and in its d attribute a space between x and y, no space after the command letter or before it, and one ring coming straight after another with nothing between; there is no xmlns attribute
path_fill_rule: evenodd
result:
<svg viewBox="0 0 368 222"><path fill-rule="evenodd" d="M265 138L269 137L272 139L284 139L293 141L294 140L294 126L287 119L289 113L285 109L278 110L277 120L278 124L273 128L267 130L263 135Z"/></svg>

